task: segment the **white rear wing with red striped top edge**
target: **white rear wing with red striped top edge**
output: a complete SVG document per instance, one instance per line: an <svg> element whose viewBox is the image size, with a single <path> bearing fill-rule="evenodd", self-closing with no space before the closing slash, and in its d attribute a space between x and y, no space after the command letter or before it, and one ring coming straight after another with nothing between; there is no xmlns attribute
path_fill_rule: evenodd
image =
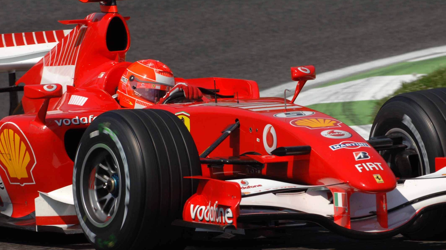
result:
<svg viewBox="0 0 446 250"><path fill-rule="evenodd" d="M0 72L27 71L70 31L66 29L1 34Z"/></svg>

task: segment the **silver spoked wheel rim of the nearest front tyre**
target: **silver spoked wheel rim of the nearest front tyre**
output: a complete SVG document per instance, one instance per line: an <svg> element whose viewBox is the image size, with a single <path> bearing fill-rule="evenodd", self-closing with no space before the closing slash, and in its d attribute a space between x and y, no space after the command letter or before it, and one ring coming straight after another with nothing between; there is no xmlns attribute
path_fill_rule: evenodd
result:
<svg viewBox="0 0 446 250"><path fill-rule="evenodd" d="M81 201L88 220L97 227L113 221L120 203L120 167L115 153L99 143L88 150L81 170Z"/></svg>

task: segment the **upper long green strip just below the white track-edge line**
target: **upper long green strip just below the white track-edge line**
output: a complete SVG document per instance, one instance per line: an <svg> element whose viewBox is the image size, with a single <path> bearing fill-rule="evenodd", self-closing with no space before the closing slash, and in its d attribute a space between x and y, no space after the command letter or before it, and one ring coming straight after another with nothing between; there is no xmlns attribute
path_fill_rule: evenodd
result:
<svg viewBox="0 0 446 250"><path fill-rule="evenodd" d="M350 77L332 81L324 85L318 86L318 88L343 83L347 81L355 81L368 77L377 76L398 76L408 74L429 74L437 69L446 67L446 56L440 56L428 60L421 60L416 62L401 62L394 65L386 66L380 69L373 69L365 73L359 73Z"/></svg>

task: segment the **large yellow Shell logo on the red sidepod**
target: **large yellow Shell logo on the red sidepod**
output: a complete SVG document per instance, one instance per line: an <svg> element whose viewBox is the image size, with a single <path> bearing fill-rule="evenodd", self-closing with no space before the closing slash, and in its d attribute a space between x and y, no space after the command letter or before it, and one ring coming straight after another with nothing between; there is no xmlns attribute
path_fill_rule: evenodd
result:
<svg viewBox="0 0 446 250"><path fill-rule="evenodd" d="M35 184L36 156L21 129L12 122L0 127L0 166L11 184Z"/></svg>

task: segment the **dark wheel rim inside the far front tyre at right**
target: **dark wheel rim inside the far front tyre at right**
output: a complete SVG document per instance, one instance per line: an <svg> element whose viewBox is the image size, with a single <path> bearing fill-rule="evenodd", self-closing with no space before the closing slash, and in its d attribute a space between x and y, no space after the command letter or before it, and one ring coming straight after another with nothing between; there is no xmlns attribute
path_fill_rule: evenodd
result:
<svg viewBox="0 0 446 250"><path fill-rule="evenodd" d="M396 177L410 178L423 175L420 151L409 133L400 128L392 128L385 135L401 136L403 138L401 143L407 146L401 151L384 150L380 152Z"/></svg>

